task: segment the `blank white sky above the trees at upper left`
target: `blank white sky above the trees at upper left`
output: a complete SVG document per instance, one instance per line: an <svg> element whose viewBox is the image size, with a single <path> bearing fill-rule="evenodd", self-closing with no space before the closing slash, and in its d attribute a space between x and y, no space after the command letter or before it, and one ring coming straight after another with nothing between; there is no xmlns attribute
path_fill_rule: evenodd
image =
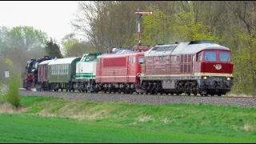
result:
<svg viewBox="0 0 256 144"><path fill-rule="evenodd" d="M75 1L0 1L0 26L34 26L59 43L74 31L70 21L77 10Z"/></svg>

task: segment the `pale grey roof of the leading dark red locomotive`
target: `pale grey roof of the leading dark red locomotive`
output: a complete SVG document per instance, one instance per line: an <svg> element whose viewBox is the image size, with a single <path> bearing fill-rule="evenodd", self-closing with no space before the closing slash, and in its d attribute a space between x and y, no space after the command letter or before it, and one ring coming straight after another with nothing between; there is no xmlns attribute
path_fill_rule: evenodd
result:
<svg viewBox="0 0 256 144"><path fill-rule="evenodd" d="M211 41L181 42L179 44L158 45L146 51L145 56L170 54L196 54L202 50L230 50Z"/></svg>

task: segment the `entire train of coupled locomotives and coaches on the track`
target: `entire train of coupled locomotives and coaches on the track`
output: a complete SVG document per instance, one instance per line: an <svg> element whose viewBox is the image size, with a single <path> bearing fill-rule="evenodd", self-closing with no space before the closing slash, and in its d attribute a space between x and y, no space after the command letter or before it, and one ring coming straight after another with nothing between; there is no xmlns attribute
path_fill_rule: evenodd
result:
<svg viewBox="0 0 256 144"><path fill-rule="evenodd" d="M230 49L212 41L191 41L111 49L107 54L33 59L23 87L133 94L226 94L233 86Z"/></svg>

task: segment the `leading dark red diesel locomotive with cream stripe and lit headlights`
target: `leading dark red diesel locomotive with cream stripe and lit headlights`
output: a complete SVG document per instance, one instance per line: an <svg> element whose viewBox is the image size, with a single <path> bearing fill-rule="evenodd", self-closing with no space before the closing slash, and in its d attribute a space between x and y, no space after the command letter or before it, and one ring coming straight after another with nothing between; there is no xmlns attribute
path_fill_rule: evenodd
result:
<svg viewBox="0 0 256 144"><path fill-rule="evenodd" d="M146 51L140 86L150 94L221 96L233 85L230 49L211 41L159 45Z"/></svg>

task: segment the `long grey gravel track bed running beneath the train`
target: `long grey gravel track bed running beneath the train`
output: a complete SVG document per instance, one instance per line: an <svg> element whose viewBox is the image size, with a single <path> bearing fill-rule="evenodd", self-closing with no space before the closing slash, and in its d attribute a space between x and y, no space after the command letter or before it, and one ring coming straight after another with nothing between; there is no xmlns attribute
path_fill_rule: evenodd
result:
<svg viewBox="0 0 256 144"><path fill-rule="evenodd" d="M101 101L101 102L128 102L141 104L162 105L167 103L203 103L212 105L256 107L256 98L225 98L225 97L194 97L194 96L171 96L171 95L146 95L146 94L91 94L69 93L49 91L20 90L21 95L48 96L74 100Z"/></svg>

